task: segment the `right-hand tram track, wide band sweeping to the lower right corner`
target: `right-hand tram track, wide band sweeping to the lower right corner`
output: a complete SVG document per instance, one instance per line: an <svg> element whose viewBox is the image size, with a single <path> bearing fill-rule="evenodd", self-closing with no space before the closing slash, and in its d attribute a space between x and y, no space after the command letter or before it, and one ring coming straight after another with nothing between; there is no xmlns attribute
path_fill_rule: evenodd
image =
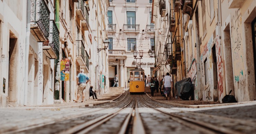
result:
<svg viewBox="0 0 256 134"><path fill-rule="evenodd" d="M222 116L208 115L190 111L168 113L158 109L159 107L163 106L159 106L153 102L148 101L147 99L145 99L144 96L140 95L139 97L141 99L141 102L143 102L146 106L158 112L164 113L170 116L172 120L177 121L188 127L191 127L195 130L198 130L202 133L242 134L255 132L256 130L256 123L240 119L237 120Z"/></svg>

